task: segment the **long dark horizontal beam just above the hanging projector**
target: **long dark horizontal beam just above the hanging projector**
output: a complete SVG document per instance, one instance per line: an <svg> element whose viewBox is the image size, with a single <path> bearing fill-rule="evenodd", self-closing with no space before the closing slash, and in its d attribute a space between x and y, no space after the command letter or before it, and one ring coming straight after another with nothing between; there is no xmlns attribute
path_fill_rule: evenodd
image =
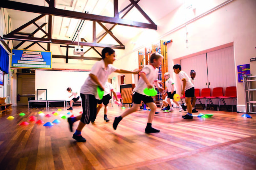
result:
<svg viewBox="0 0 256 170"><path fill-rule="evenodd" d="M54 44L78 45L78 42L68 41L68 40L57 40L57 39L37 38L37 37L24 37L24 36L16 36L16 35L3 35L3 38L10 39L10 40L17 40L17 41L32 41L32 42L44 42L44 43L48 43L51 40L51 42ZM83 45L83 46L110 47L110 48L125 49L124 46L111 45L111 44L99 44L99 43L92 43L92 42L79 42L79 44Z"/></svg>

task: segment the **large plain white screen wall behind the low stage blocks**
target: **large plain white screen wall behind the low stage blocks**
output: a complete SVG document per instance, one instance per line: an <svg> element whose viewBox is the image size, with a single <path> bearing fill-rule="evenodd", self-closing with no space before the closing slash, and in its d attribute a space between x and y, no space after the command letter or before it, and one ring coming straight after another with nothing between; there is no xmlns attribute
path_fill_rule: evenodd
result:
<svg viewBox="0 0 256 170"><path fill-rule="evenodd" d="M80 88L88 77L89 72L78 71L43 71L36 70L37 89L47 89L47 100L71 100L67 88L80 96ZM81 100L81 99L80 99Z"/></svg>

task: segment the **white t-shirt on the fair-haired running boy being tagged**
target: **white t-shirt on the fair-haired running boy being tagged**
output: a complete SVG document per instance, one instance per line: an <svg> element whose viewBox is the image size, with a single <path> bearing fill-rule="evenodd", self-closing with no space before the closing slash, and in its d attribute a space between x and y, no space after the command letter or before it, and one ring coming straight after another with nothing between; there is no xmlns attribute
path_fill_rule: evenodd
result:
<svg viewBox="0 0 256 170"><path fill-rule="evenodd" d="M146 74L146 78L150 82L150 84L153 84L154 81L158 81L158 68L154 67L153 65L145 65L145 67L142 69L141 73ZM148 86L144 82L142 78L139 79L138 85L136 86L135 92L145 95L143 90L147 88Z"/></svg>

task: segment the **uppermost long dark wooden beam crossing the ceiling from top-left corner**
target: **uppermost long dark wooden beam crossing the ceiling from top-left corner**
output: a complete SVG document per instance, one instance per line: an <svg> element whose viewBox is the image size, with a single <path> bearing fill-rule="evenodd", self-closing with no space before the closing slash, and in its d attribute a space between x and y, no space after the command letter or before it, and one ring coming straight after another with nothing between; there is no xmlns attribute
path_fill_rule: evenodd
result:
<svg viewBox="0 0 256 170"><path fill-rule="evenodd" d="M134 4L137 5L136 2ZM63 10L63 9L57 9L57 8L51 8L51 7L43 7L43 6L20 3L15 1L2 0L0 3L0 7L27 11L27 12L40 13L40 14L48 14L48 15L52 14L56 16L77 18L82 20L97 21L97 22L104 22L104 23L110 23L110 24L119 24L119 25L131 26L131 27L140 27L140 28L148 28L148 29L155 29L155 30L157 29L155 24L135 22L135 21L124 20L120 18L113 18L108 16L86 14L83 12Z"/></svg>

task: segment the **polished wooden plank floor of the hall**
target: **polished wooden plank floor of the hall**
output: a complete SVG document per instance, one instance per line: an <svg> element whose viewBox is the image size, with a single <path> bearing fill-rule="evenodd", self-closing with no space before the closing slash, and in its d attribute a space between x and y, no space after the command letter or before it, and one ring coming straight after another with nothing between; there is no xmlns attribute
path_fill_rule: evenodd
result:
<svg viewBox="0 0 256 170"><path fill-rule="evenodd" d="M57 109L63 111L57 111ZM72 139L67 120L51 114L67 115L64 107L13 107L0 117L0 169L256 169L256 115L253 119L224 111L203 111L212 118L184 120L185 112L161 112L152 126L160 133L146 134L148 111L137 111L125 117L113 130L115 116L124 110L109 108L103 119L103 109L94 124L82 131L85 143ZM80 106L71 111L79 115ZM37 113L51 114L50 118ZM25 116L18 114L24 112ZM30 116L52 122L52 127L29 122ZM8 120L8 116L15 119ZM67 115L68 116L68 115ZM28 126L19 126L27 121ZM78 122L74 124L74 129Z"/></svg>

